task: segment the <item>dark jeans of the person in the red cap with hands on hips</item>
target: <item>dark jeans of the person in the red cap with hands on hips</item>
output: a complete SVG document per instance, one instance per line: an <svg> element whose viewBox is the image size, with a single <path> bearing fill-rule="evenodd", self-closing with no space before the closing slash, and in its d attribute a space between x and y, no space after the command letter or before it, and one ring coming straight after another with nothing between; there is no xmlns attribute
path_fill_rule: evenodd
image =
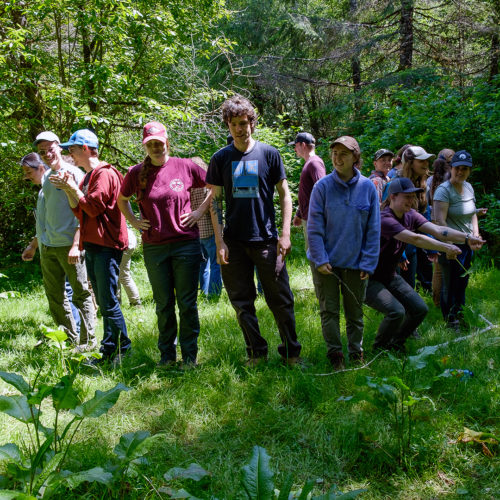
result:
<svg viewBox="0 0 500 500"><path fill-rule="evenodd" d="M201 262L199 240L164 245L143 244L144 263L148 272L158 317L158 349L161 361L175 361L177 318L179 308L179 343L184 362L196 361L198 353L198 274Z"/></svg>

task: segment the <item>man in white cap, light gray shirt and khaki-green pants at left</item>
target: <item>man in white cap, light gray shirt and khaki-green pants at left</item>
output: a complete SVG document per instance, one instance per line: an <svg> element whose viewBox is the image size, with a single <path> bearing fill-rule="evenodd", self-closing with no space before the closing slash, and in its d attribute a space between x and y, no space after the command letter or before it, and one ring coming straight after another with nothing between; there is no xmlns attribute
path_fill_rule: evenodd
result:
<svg viewBox="0 0 500 500"><path fill-rule="evenodd" d="M49 131L38 134L33 143L50 169L42 179L43 203L38 205L36 236L24 250L22 259L32 260L36 249L40 249L43 285L50 313L69 339L83 350L95 346L95 309L83 256L78 249L79 224L65 193L54 187L49 176L67 172L75 182L80 182L84 173L63 160L59 144L59 137ZM73 289L73 304L81 318L80 335L65 296L66 276Z"/></svg>

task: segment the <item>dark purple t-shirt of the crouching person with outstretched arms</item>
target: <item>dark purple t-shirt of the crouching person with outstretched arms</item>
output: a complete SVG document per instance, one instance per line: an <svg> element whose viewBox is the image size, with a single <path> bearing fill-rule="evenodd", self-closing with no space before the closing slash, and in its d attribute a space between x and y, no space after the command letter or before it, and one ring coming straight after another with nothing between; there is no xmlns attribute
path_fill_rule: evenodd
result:
<svg viewBox="0 0 500 500"><path fill-rule="evenodd" d="M384 208L380 212L380 255L377 269L375 269L370 279L381 283L391 281L406 247L406 243L397 240L394 236L405 229L416 232L420 226L427 222L429 221L423 215L413 209L406 212L401 219L398 219L390 207Z"/></svg>

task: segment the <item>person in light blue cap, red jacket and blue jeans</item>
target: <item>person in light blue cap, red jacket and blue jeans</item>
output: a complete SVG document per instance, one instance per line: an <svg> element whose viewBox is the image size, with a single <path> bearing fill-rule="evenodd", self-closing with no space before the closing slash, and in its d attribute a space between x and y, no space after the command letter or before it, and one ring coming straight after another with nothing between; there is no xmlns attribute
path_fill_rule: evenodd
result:
<svg viewBox="0 0 500 500"><path fill-rule="evenodd" d="M68 197L80 220L80 250L103 320L101 359L92 364L121 362L130 352L131 341L118 302L118 274L123 251L128 246L127 224L117 204L123 180L115 167L99 160L99 141L88 129L77 130L61 147L68 149L86 175L78 185L72 177L52 175L50 181Z"/></svg>

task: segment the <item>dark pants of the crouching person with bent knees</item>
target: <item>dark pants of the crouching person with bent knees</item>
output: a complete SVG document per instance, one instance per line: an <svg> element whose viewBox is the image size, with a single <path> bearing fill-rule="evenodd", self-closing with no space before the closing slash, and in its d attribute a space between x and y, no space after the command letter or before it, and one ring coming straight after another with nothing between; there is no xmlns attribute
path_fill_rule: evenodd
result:
<svg viewBox="0 0 500 500"><path fill-rule="evenodd" d="M429 311L422 297L398 274L386 285L370 279L365 302L385 315L374 347L403 345Z"/></svg>

